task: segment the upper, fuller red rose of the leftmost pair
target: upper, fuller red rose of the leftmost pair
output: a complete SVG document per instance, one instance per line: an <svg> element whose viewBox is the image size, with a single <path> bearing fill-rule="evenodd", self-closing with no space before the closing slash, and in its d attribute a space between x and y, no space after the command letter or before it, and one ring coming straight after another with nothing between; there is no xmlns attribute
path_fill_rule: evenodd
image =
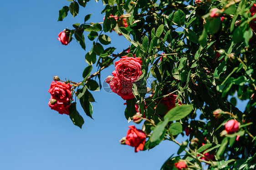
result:
<svg viewBox="0 0 256 170"><path fill-rule="evenodd" d="M71 85L69 83L52 81L48 92L50 92L52 97L58 102L69 102L72 100Z"/></svg>

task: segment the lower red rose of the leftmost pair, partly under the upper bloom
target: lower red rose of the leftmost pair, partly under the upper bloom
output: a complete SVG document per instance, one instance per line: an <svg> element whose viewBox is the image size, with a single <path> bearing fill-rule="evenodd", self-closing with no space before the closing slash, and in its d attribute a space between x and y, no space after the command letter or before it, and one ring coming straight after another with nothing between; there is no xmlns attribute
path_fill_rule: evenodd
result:
<svg viewBox="0 0 256 170"><path fill-rule="evenodd" d="M52 102L52 96L50 99L50 102L48 103L49 107L51 107L52 110L55 110L57 112L59 112L60 114L67 114L69 115L69 109L68 107L70 106L70 104L68 102L59 102L59 101L54 101Z"/></svg>

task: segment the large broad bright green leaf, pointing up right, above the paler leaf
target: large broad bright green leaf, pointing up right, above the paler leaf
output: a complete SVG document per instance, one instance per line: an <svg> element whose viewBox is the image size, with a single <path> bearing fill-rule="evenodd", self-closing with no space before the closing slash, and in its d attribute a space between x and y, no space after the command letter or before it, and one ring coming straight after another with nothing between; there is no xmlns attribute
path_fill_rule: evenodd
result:
<svg viewBox="0 0 256 170"><path fill-rule="evenodd" d="M169 119L169 121L178 121L189 115L193 110L193 105L180 105L172 108L165 116L164 119Z"/></svg>

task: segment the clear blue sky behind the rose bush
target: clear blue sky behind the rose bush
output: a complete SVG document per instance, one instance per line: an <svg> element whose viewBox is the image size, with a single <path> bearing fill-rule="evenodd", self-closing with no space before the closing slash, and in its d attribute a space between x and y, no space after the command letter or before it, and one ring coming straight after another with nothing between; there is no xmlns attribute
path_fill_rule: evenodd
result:
<svg viewBox="0 0 256 170"><path fill-rule="evenodd" d="M69 116L48 107L52 76L74 82L82 80L87 63L84 56L92 42L86 37L86 51L76 40L67 46L57 35L72 24L102 22L102 2L91 0L80 6L77 17L69 13L57 22L58 11L67 0L5 0L0 10L0 169L1 170L158 170L170 155L178 151L176 144L162 141L150 151L134 152L131 146L119 144L126 136L128 123L124 117L123 99L103 89L92 92L94 121L86 116L80 104L78 112L85 120L82 129L73 125ZM115 32L107 33L116 53L129 46L128 40ZM114 66L104 69L102 81ZM92 73L97 71L95 68ZM245 104L238 102L238 107ZM136 125L141 128L142 124ZM178 141L186 138L178 137Z"/></svg>

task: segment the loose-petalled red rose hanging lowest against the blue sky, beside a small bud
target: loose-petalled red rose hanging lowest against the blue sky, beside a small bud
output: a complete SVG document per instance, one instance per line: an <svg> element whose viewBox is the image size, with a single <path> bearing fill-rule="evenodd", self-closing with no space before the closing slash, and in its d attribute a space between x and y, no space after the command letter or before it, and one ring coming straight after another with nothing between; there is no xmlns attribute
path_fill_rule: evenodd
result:
<svg viewBox="0 0 256 170"><path fill-rule="evenodd" d="M146 134L135 126L128 126L130 129L127 131L125 144L135 147L135 152L143 150L146 141Z"/></svg>

